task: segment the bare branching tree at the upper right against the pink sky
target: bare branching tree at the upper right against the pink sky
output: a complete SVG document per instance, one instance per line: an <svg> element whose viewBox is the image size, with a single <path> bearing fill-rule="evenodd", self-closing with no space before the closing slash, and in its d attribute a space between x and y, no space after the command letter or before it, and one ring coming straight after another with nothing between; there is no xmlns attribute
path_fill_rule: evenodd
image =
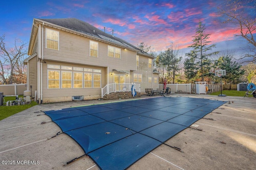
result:
<svg viewBox="0 0 256 170"><path fill-rule="evenodd" d="M235 31L239 32L235 36L243 37L249 43L247 54L240 59L256 62L256 41L253 36L256 31L256 1L227 0L218 10L222 23L235 26Z"/></svg>

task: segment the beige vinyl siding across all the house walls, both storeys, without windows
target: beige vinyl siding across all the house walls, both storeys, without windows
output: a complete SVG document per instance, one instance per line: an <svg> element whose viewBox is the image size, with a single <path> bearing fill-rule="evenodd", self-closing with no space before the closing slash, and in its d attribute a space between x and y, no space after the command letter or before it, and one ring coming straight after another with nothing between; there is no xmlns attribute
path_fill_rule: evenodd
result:
<svg viewBox="0 0 256 170"><path fill-rule="evenodd" d="M43 82L42 82L42 100L43 102L59 102L70 101L72 96L84 96L84 100L99 99L101 98L101 88L106 86L107 83L114 83L114 75L125 75L125 82L132 83L133 74L142 74L141 92L144 92L145 88L155 88L154 77L152 74L153 69L148 68L148 57L141 56L139 60L139 66L136 66L136 52L131 50L124 50L114 45L112 47L119 48L121 50L120 59L108 57L108 45L101 41L91 40L98 42L98 57L90 57L90 39L81 35L60 31L58 29L50 28L52 30L59 31L59 50L46 49L46 27L44 27L43 37ZM38 52L38 36L36 37L35 44L33 46L33 53ZM37 87L37 59L34 57L29 61L30 71L30 84L33 86L33 90ZM47 64L55 64L60 66L72 66L82 68L92 68L101 70L101 88L69 88L69 89L48 89L48 73ZM31 68L32 67L32 68ZM130 71L128 76L125 72L117 72L115 70ZM52 70L52 69L50 69ZM111 72L113 74L111 75ZM73 71L74 72L74 71ZM31 78L31 76L34 78ZM152 77L152 83L148 83L148 76ZM61 80L60 80L61 81ZM136 82L137 83L137 82ZM60 84L61 87L61 84Z"/></svg>

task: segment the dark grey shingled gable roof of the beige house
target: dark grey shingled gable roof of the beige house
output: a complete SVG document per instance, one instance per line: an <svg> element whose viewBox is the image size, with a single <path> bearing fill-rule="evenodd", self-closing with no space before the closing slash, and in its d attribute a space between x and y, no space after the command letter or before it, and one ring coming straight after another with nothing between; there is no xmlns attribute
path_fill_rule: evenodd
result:
<svg viewBox="0 0 256 170"><path fill-rule="evenodd" d="M78 20L76 18L34 19L34 23L35 22L44 23L47 25L55 25L55 27L58 25L59 27L62 27L62 29L73 30L74 32L79 32L83 35L88 35L88 37L98 39L107 43L111 43L123 48L131 49L136 51L138 54L152 57L148 53L142 51L141 49L128 43L127 41L124 41L123 39L120 39L104 31L101 31L100 29L90 25L89 23ZM33 32L33 29L32 29L32 32ZM32 33L31 33L31 37L32 37Z"/></svg>

